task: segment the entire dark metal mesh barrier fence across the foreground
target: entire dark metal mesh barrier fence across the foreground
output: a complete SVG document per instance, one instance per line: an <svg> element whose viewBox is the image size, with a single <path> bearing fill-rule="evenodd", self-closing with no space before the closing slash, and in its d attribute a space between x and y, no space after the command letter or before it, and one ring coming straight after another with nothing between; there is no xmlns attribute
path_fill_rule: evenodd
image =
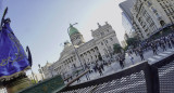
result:
<svg viewBox="0 0 174 93"><path fill-rule="evenodd" d="M174 54L149 65L139 63L120 72L67 87L61 93L173 93Z"/></svg>

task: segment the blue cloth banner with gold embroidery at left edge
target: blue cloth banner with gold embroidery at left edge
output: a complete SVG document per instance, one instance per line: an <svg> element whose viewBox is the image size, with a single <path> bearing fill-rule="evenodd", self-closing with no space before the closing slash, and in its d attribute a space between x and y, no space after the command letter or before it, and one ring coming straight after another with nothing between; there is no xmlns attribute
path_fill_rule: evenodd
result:
<svg viewBox="0 0 174 93"><path fill-rule="evenodd" d="M27 68L25 51L7 21L0 30L0 79L12 78Z"/></svg>

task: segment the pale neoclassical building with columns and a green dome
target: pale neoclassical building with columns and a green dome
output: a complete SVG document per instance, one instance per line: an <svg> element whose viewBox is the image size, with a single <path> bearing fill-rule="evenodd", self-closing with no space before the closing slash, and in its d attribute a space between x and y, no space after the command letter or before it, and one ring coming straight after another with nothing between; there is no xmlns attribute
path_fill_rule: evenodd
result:
<svg viewBox="0 0 174 93"><path fill-rule="evenodd" d="M94 39L85 42L83 35L71 25L70 38L74 46L70 42L64 43L64 49L60 54L59 61L51 65L52 71L61 75L69 74L73 68L80 67L79 59L82 65L91 64L98 61L99 57L104 59L113 54L113 44L119 43L119 40L110 24L105 23L103 26L98 24L98 29L91 30L91 35Z"/></svg>

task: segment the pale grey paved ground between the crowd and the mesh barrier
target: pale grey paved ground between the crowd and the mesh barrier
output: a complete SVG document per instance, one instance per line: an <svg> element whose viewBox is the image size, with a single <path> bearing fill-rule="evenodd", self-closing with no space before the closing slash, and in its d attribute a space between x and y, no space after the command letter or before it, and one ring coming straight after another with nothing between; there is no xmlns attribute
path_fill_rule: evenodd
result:
<svg viewBox="0 0 174 93"><path fill-rule="evenodd" d="M144 54L144 56L145 56L145 59L148 61L149 64L154 64L156 62L161 61L162 58L164 58L166 56L170 56L173 53L174 53L174 48L173 49L167 49L164 52L161 49L159 49L158 55L153 55L152 51L148 51ZM133 54L133 57L134 57L135 64L141 62L139 56L136 56L135 54ZM134 65L130 63L130 59L128 58L128 56L126 56L125 57L125 68L130 67L130 66L134 66ZM102 77L105 77L105 76L109 76L109 75L112 75L114 72L117 72L117 71L122 70L119 62L112 63L111 66L104 67L104 69L105 70L103 71ZM90 80L101 78L99 72L92 72L92 74L89 75L89 77L90 77ZM87 82L87 79L86 79L85 76L80 78L79 83L82 83L82 82ZM74 82L73 84L77 84L77 82Z"/></svg>

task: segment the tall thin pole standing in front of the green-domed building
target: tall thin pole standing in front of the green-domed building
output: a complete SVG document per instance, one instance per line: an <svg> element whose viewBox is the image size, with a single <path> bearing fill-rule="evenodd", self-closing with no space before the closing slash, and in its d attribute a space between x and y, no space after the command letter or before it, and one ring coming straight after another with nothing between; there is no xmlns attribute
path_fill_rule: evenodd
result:
<svg viewBox="0 0 174 93"><path fill-rule="evenodd" d="M75 24L73 24L73 25L70 25L70 27L72 27L72 26L74 26L74 25L77 25L77 24L78 24L78 23L75 23ZM80 63L80 66L83 67L83 70L85 70L85 68L84 68L84 66L83 66L83 63L82 63L82 61L80 61L80 58L79 58L79 55L78 55L78 53L77 53L77 50L76 50L76 48L74 46L74 43L73 43L73 41L72 41L72 39L71 39L71 36L70 36L70 27L67 28L67 34L69 34L70 40L71 40L72 45L73 45L73 48L74 48L74 50L75 50L75 54L76 54L76 56L77 56L77 58L78 58L78 61L79 61L79 63Z"/></svg>

